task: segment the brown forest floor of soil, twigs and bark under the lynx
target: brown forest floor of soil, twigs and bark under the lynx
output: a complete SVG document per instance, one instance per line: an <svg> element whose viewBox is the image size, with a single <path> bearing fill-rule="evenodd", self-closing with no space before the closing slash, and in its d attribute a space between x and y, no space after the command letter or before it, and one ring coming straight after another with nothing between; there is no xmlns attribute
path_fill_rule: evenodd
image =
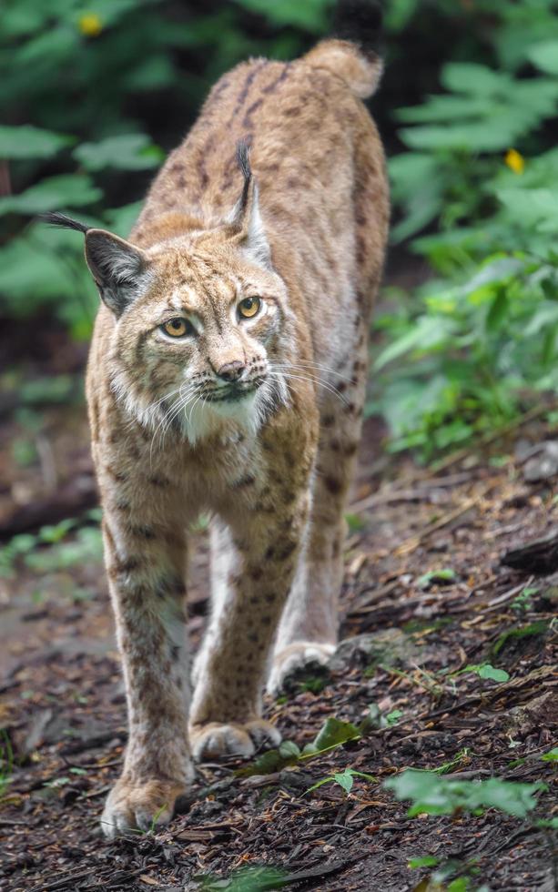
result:
<svg viewBox="0 0 558 892"><path fill-rule="evenodd" d="M542 758L557 743L558 576L501 563L558 524L555 480L524 479L525 442L555 436L534 419L434 469L382 456L380 426L367 422L346 543L344 644L329 673L265 703L300 750L331 718L359 734L291 764L252 764L250 774L235 761L199 765L169 826L103 839L126 708L85 413L70 399L82 360L66 350L60 393L37 398L39 408L33 392L25 411L0 400L0 887L558 888L556 832L537 824L558 815L555 762ZM67 517L76 521L60 523ZM196 539L195 643L208 606L206 533ZM508 677L462 671L482 664ZM494 807L410 817L409 802L383 786L405 767L546 788L526 817ZM309 792L333 773L349 786L347 768L373 776L353 775L349 792L338 783ZM423 857L446 879L437 867L409 866Z"/></svg>

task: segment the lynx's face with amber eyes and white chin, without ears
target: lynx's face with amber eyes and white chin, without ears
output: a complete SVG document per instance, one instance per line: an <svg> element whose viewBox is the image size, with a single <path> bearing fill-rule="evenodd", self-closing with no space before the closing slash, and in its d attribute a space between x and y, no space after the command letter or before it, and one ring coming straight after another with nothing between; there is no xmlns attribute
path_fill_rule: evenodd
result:
<svg viewBox="0 0 558 892"><path fill-rule="evenodd" d="M286 289L236 253L148 258L151 284L117 320L113 387L142 423L191 442L226 419L256 431L287 399Z"/></svg>

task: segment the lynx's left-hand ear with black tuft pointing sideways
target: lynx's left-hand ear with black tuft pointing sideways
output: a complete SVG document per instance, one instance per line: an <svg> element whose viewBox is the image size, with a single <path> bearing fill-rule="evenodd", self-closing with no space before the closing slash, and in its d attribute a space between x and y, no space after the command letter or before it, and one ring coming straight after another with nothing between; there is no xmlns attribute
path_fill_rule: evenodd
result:
<svg viewBox="0 0 558 892"><path fill-rule="evenodd" d="M115 316L121 316L147 283L147 258L144 251L106 229L87 227L65 214L45 214L43 219L53 226L84 233L87 266L96 281L101 299Z"/></svg>

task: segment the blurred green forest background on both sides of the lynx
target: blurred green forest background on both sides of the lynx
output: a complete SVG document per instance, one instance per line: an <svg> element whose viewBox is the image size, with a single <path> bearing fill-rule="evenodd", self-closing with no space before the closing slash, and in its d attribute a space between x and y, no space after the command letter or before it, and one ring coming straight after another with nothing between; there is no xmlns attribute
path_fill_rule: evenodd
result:
<svg viewBox="0 0 558 892"><path fill-rule="evenodd" d="M388 453L432 462L525 412L558 419L557 6L385 0L386 72L371 111L390 158L393 228L367 416ZM98 298L82 238L36 214L66 210L126 236L218 76L247 56L299 56L328 33L330 13L330 0L3 5L6 634L16 573L35 619L49 593L91 598L100 575L83 397ZM71 623L66 607L60 615ZM27 646L20 619L16 652Z"/></svg>

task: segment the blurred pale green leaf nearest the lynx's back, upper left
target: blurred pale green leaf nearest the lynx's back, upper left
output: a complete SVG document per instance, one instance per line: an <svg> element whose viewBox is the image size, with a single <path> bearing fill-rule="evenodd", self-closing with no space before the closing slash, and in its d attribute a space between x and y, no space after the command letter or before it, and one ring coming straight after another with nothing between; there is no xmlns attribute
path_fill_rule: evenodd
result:
<svg viewBox="0 0 558 892"><path fill-rule="evenodd" d="M147 170L158 167L165 157L143 133L127 133L107 137L98 143L83 143L74 149L74 157L86 170L96 172L105 167L121 170Z"/></svg>

